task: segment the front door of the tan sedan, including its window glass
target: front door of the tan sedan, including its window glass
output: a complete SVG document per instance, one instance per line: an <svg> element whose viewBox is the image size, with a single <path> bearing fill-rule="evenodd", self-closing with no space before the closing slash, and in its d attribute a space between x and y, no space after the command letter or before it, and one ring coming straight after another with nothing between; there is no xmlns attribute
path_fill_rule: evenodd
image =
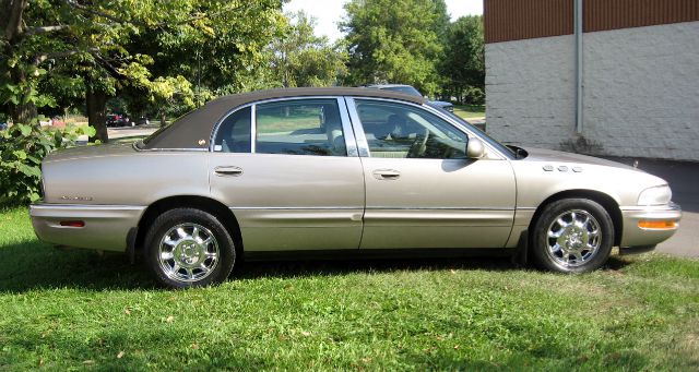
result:
<svg viewBox="0 0 699 372"><path fill-rule="evenodd" d="M347 101L366 185L362 249L505 247L516 197L508 160L467 159L467 134L420 106Z"/></svg>

